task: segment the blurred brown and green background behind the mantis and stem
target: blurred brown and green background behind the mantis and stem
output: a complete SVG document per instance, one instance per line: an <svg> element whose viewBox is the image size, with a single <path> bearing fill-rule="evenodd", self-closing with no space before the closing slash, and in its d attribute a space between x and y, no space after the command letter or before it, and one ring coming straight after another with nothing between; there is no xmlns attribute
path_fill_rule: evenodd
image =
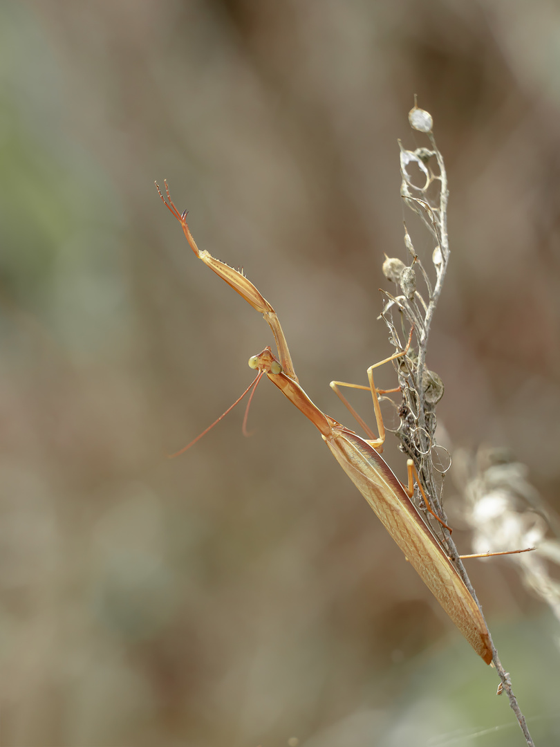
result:
<svg viewBox="0 0 560 747"><path fill-rule="evenodd" d="M406 260L416 93L451 189L428 360L445 443L511 449L558 509L559 41L548 0L0 4L1 744L523 743L495 672L276 388L252 438L238 409L166 459L273 340L154 179L354 427L329 381L392 352L378 289L384 252ZM533 737L557 744L553 617L507 563L471 563Z"/></svg>

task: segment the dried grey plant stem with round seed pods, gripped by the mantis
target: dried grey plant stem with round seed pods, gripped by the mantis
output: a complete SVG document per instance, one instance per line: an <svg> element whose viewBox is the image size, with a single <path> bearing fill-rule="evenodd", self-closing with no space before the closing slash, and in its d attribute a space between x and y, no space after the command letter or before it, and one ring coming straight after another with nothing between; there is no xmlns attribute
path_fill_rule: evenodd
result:
<svg viewBox="0 0 560 747"><path fill-rule="evenodd" d="M401 441L402 450L414 461L419 474L419 480L424 492L429 497L429 502L434 512L447 523L447 516L441 507L440 496L443 491L444 477L447 470L439 470L434 465L435 427L435 405L443 395L443 385L437 374L426 369L426 355L428 350L429 330L441 290L444 285L447 264L449 261L449 237L447 233L447 202L449 190L447 186L447 173L444 159L432 133L432 117L428 112L417 106L409 115L413 128L426 132L429 137L431 148L419 148L414 152L401 149L401 194L406 204L422 220L426 229L435 239L435 251L432 257L432 267L435 271L435 281L432 282L428 272L418 258L408 231L405 229L405 244L411 255L410 267L400 260L387 259L384 263L385 275L388 279L399 282L402 294L393 296L386 293L388 303L382 312L382 317L387 323L391 341L397 350L402 350L402 342L397 332L397 323L393 318L396 311L399 312L400 322L403 319L408 325L414 326L417 337L417 355L408 356L408 359L397 367L399 373L399 384L402 391L402 406L399 410L400 425L396 431ZM400 145L400 143L399 143ZM437 162L437 172L432 172L427 165L431 159ZM418 186L408 173L408 167L414 164L420 179L425 180L423 185ZM417 179L417 175L416 175ZM435 195L433 192L436 192ZM416 272L419 269L426 285L425 299L416 289ZM426 384L429 382L429 385ZM441 527L438 528L438 531ZM470 583L467 571L459 558L455 543L449 532L441 529L441 541L446 548L449 558L455 563L462 580L480 608L476 593ZM481 610L482 612L482 610ZM511 678L503 669L496 648L492 643L493 663L500 675L502 682L499 692L505 691L509 698L511 709L517 717L523 737L527 745L533 746L533 741L526 725L525 717L517 704Z"/></svg>

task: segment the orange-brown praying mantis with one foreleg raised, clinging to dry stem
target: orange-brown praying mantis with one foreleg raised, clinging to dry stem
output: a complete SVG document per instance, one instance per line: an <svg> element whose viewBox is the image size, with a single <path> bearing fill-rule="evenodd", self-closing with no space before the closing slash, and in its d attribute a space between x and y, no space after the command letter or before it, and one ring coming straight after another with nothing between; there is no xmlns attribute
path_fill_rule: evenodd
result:
<svg viewBox="0 0 560 747"><path fill-rule="evenodd" d="M181 223L184 235L196 256L208 265L214 273L225 280L253 309L263 314L264 319L273 332L279 359L276 359L270 347L266 347L257 356L252 356L249 359L249 366L258 371L258 376L252 382L252 385L246 389L246 392L253 385L256 385L261 376L266 375L287 399L317 427L323 441L329 447L340 467L343 468L350 480L352 480L352 483L355 484L367 500L367 503L370 504L373 511L382 521L385 529L388 530L388 533L396 544L399 545L408 562L410 562L420 575L420 578L428 586L439 604L441 604L441 607L444 608L449 618L452 619L452 622L455 623L485 663L491 663L493 653L490 633L488 632L488 627L486 627L482 613L458 574L455 565L449 560L432 529L423 520L419 510L411 500L414 491L415 474L411 459L408 460L408 486L405 488L380 454L385 441L385 427L379 406L379 390L373 381L373 369L383 363L405 356L411 342L412 330L408 344L404 350L370 366L367 370L369 386L331 382L331 386L337 396L349 407L352 415L370 437L361 438L357 433L335 421L334 418L325 415L325 413L314 405L308 395L305 394L305 391L299 385L299 380L293 369L290 350L287 347L287 341L281 329L276 311L274 311L270 303L268 303L258 289L255 288L255 285L243 273L234 270L232 267L214 258L209 252L205 250L201 251L196 246L196 242L187 225L187 213L186 211L179 213L175 207L169 195L167 182L165 182L167 199L161 193L157 183L156 187L164 205L167 206L172 215ZM379 430L377 438L358 413L346 402L346 398L340 393L340 386L353 386L371 391ZM187 448L188 446L178 453L182 453ZM419 487L421 492L423 492L421 486ZM426 496L423 495L423 498L426 502L426 507L429 509ZM429 511L435 515L432 509L429 509ZM447 524L444 524L444 521L437 515L435 515L435 518L444 527L447 527Z"/></svg>

